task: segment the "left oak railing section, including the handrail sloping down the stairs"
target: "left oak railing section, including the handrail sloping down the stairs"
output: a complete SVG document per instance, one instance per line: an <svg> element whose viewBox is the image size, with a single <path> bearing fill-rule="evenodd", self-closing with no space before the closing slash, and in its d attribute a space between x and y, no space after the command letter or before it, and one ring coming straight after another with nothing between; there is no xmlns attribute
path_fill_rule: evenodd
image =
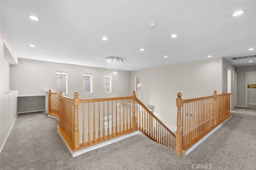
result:
<svg viewBox="0 0 256 170"><path fill-rule="evenodd" d="M74 99L64 97L62 92L59 98L55 95L49 90L49 114L58 115L59 131L73 152L138 130L175 149L175 135L136 98L134 91L130 97L100 99L79 99L78 93ZM53 114L56 103L58 112Z"/></svg>

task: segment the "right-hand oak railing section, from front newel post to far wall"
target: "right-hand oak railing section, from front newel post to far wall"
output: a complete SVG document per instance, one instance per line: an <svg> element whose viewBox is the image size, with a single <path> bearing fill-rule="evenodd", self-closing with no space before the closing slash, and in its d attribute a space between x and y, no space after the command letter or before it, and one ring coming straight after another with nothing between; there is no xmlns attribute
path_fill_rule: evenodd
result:
<svg viewBox="0 0 256 170"><path fill-rule="evenodd" d="M182 100L177 94L176 156L186 150L230 116L230 93Z"/></svg>

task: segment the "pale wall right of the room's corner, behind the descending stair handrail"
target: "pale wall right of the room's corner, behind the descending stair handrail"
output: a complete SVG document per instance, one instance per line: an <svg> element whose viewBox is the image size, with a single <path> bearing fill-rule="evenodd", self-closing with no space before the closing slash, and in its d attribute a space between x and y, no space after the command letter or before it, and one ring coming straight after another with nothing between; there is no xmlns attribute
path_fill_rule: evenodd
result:
<svg viewBox="0 0 256 170"><path fill-rule="evenodd" d="M154 105L155 115L166 125L176 126L177 93L183 99L222 94L222 58L133 71L130 91L135 90L135 76L141 76L141 92L136 97Z"/></svg>

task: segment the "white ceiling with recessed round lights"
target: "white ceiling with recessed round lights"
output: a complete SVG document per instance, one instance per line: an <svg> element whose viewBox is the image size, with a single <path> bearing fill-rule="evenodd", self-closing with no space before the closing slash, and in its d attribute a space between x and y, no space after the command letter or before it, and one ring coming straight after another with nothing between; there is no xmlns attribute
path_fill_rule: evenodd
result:
<svg viewBox="0 0 256 170"><path fill-rule="evenodd" d="M236 66L256 65L256 57L231 59L256 54L247 50L256 48L255 0L1 0L0 8L2 25L22 59L107 68L104 59L114 56L124 59L120 69L128 71L208 55ZM246 12L232 17L241 9ZM31 14L40 21L30 20ZM170 38L174 33L178 37Z"/></svg>

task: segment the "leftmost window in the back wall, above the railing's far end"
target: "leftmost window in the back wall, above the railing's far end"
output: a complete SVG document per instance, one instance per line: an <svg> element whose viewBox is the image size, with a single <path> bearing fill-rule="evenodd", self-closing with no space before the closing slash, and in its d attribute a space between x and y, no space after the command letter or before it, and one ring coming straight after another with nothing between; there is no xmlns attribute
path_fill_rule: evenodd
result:
<svg viewBox="0 0 256 170"><path fill-rule="evenodd" d="M56 92L68 93L68 75L66 72L55 72Z"/></svg>

